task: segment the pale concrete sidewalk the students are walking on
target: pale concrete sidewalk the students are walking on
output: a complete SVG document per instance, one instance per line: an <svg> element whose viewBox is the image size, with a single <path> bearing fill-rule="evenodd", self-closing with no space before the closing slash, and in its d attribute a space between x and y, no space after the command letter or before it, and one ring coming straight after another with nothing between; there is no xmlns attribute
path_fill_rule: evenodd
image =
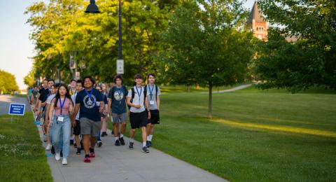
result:
<svg viewBox="0 0 336 182"><path fill-rule="evenodd" d="M42 140L40 126L38 131ZM150 153L142 153L142 144L137 141L132 151L127 145L114 146L114 137L110 130L108 133L109 136L102 137L103 146L94 148L96 157L91 163L84 163L83 151L76 155L73 146L66 166L62 166L62 159L56 161L50 151L45 151L54 181L225 181L154 148L149 148ZM126 144L128 141L125 137Z"/></svg>

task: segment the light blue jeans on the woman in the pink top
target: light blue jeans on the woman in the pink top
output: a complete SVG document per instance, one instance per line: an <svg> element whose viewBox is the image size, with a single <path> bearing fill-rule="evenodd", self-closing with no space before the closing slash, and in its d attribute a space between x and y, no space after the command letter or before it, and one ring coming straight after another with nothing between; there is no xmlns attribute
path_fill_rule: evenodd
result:
<svg viewBox="0 0 336 182"><path fill-rule="evenodd" d="M59 115L64 119L62 122L57 121L58 116L54 116L51 126L51 143L55 148L55 152L59 153L62 151L63 158L68 158L70 151L70 133L71 133L71 122L67 115Z"/></svg>

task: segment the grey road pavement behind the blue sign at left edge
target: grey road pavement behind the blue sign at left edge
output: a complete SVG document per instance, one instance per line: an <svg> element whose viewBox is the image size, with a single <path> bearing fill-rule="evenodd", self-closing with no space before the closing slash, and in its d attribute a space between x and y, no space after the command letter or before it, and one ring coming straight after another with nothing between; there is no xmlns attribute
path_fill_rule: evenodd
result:
<svg viewBox="0 0 336 182"><path fill-rule="evenodd" d="M30 106L26 97L14 97L10 94L0 94L0 114L6 114L9 110L9 104L26 104L25 112L30 112Z"/></svg>

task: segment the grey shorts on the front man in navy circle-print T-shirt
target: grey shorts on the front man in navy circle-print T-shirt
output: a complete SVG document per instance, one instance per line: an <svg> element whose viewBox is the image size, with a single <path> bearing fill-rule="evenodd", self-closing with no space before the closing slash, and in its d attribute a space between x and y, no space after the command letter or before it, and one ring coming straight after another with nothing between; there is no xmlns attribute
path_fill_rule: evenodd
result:
<svg viewBox="0 0 336 182"><path fill-rule="evenodd" d="M99 121L90 120L87 118L80 118L80 134L90 134L92 137L98 137L102 129L102 123Z"/></svg>

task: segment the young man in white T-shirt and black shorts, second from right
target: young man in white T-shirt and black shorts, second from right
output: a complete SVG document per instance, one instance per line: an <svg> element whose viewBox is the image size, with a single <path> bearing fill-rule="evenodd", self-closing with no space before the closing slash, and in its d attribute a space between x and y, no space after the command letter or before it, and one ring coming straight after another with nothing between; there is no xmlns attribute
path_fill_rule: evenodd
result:
<svg viewBox="0 0 336 182"><path fill-rule="evenodd" d="M134 76L134 80L136 85L132 87L132 89L129 90L127 94L127 105L131 106L130 108L131 130L130 130L129 148L131 150L134 148L134 133L137 128L141 127L142 141L143 141L142 151L144 153L149 153L149 150L146 146L146 139L147 139L146 125L148 123L148 119L151 118L151 112L149 111L146 91L142 86L141 74L136 74Z"/></svg>

